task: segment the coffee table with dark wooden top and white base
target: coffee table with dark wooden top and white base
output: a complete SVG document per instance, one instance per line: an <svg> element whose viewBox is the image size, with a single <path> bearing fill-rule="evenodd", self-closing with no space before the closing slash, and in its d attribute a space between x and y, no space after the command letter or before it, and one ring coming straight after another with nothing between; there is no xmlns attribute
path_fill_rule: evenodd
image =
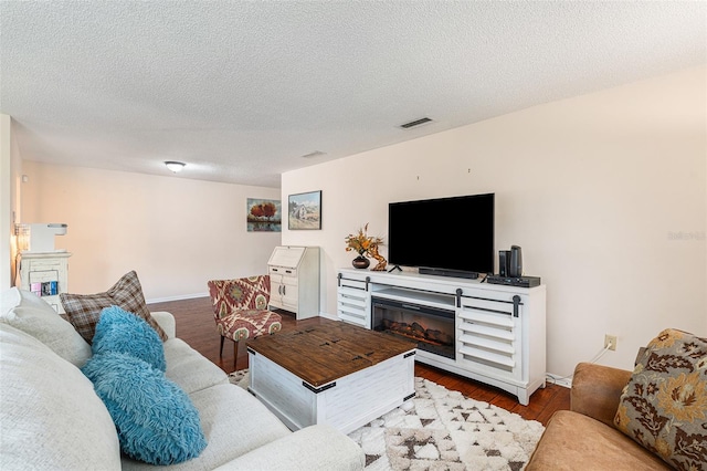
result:
<svg viewBox="0 0 707 471"><path fill-rule="evenodd" d="M249 390L291 429L349 433L415 395L416 344L338 321L247 342Z"/></svg>

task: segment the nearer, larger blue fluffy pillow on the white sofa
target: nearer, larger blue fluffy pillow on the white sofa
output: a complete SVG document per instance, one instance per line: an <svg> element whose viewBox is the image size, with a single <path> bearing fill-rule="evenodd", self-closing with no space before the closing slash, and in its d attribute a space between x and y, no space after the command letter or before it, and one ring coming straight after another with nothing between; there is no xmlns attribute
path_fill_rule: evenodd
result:
<svg viewBox="0 0 707 471"><path fill-rule="evenodd" d="M94 355L82 371L106 405L128 457L173 464L198 457L207 447L199 411L162 371L118 352Z"/></svg>

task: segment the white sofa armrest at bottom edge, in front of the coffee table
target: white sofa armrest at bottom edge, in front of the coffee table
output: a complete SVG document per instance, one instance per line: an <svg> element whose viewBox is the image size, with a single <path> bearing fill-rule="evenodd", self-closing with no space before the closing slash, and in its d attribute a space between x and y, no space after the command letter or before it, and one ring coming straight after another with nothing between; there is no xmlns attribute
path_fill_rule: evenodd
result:
<svg viewBox="0 0 707 471"><path fill-rule="evenodd" d="M271 441L229 461L218 471L360 471L366 454L346 435L330 426L317 425Z"/></svg>

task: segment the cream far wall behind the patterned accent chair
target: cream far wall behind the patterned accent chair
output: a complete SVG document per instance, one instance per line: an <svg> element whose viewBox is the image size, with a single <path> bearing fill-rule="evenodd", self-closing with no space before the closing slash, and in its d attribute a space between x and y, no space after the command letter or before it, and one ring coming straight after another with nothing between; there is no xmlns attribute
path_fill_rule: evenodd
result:
<svg viewBox="0 0 707 471"><path fill-rule="evenodd" d="M279 190L23 163L21 222L64 222L68 291L96 293L135 270L149 301L208 295L207 281L267 272L279 232L246 232L246 198Z"/></svg>

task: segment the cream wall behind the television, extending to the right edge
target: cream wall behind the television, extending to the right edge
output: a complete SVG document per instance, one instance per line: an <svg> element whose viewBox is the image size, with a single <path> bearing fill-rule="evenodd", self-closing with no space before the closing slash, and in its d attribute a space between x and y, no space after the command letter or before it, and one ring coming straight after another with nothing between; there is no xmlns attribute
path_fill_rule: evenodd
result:
<svg viewBox="0 0 707 471"><path fill-rule="evenodd" d="M706 83L686 70L289 171L283 202L321 190L323 230L284 224L283 243L323 248L336 315L348 233L384 237L390 201L495 192L496 248L521 245L547 284L548 371L571 374L604 334L618 349L601 363L631 368L665 327L707 335Z"/></svg>

